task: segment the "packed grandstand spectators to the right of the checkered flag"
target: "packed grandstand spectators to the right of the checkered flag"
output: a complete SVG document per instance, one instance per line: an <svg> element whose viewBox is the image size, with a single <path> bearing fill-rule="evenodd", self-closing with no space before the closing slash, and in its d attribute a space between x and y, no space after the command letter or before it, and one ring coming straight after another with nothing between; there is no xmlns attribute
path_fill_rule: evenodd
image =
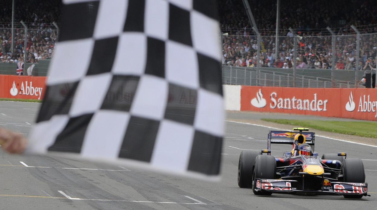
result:
<svg viewBox="0 0 377 210"><path fill-rule="evenodd" d="M375 67L377 7L372 6L374 1L340 3L338 0L319 0L305 5L298 1L282 2L277 54L274 35L276 1L249 0L249 3L262 36L260 60L257 61L256 56L257 37L250 29L244 5L241 1L220 0L219 8L223 13L220 15L221 29L223 33L228 33L222 36L223 64L255 67L259 62L262 67L291 68L296 60L297 68L331 69L334 58L335 69L352 70L357 66L356 34L349 26L355 25L363 33L360 35L359 70ZM344 26L334 29L336 48L332 52L332 37L325 28L342 21ZM293 34L288 31L289 27L294 28L299 35L296 57Z"/></svg>

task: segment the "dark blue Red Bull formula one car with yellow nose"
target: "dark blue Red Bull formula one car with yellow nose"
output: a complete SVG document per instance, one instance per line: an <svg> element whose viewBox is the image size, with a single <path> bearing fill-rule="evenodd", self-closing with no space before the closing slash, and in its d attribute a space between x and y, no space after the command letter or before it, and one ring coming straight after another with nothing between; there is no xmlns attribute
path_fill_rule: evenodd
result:
<svg viewBox="0 0 377 210"><path fill-rule="evenodd" d="M337 194L345 198L370 196L361 159L346 158L345 152L314 152L314 132L307 128L268 133L267 149L242 151L238 163L238 186L255 195L272 193ZM291 144L282 157L271 156L272 144ZM299 147L299 148L298 148ZM297 153L299 151L299 153ZM263 155L266 153L267 155Z"/></svg>

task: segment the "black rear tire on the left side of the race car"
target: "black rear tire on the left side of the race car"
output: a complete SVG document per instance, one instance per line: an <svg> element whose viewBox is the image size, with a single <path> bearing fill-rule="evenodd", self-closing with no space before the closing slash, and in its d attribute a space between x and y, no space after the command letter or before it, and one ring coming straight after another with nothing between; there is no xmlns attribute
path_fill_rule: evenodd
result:
<svg viewBox="0 0 377 210"><path fill-rule="evenodd" d="M251 188L253 185L253 166L255 163L255 158L261 155L262 152L259 151L242 151L239 154L238 161L238 176L237 182L238 186L241 188Z"/></svg>

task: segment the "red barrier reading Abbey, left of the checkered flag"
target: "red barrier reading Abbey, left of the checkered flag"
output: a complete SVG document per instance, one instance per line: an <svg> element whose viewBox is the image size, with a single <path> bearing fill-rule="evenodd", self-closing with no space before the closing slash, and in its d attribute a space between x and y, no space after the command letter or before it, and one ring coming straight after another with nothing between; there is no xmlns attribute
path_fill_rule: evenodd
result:
<svg viewBox="0 0 377 210"><path fill-rule="evenodd" d="M47 77L0 75L0 98L43 99Z"/></svg>

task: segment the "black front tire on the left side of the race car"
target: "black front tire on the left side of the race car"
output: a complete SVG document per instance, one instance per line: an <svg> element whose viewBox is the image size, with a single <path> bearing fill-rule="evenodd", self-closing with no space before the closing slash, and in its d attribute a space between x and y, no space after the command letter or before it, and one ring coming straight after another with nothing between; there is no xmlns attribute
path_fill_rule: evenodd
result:
<svg viewBox="0 0 377 210"><path fill-rule="evenodd" d="M271 195L272 192L257 192L255 189L254 179L275 179L276 177L276 159L271 155L258 155L255 158L254 175L253 175L253 193L255 195Z"/></svg>

